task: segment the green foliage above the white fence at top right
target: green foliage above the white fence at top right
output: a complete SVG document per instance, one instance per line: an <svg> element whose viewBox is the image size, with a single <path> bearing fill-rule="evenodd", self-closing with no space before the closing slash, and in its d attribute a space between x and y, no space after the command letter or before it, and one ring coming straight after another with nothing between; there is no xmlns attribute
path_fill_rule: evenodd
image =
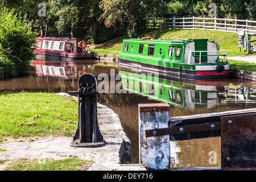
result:
<svg viewBox="0 0 256 182"><path fill-rule="evenodd" d="M217 18L255 20L256 0L171 0L166 17L209 17L210 3L216 4Z"/></svg>

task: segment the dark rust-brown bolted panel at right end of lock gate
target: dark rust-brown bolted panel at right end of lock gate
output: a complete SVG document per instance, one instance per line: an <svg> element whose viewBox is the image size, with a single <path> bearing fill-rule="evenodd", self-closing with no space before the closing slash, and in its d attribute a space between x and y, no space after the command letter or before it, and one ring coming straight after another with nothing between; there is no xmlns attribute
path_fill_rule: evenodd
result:
<svg viewBox="0 0 256 182"><path fill-rule="evenodd" d="M256 114L221 117L221 168L256 169Z"/></svg>

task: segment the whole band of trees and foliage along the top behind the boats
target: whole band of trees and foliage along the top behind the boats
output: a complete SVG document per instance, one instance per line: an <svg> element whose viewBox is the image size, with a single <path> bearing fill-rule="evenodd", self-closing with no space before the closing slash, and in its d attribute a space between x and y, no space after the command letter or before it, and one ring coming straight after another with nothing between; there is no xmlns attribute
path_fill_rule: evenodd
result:
<svg viewBox="0 0 256 182"><path fill-rule="evenodd" d="M38 3L46 5L46 17L38 16ZM3 8L27 15L32 26L46 36L49 25L57 34L90 38L91 43L105 42L121 35L137 37L138 30L152 18L209 17L208 7L216 3L217 18L256 18L256 0L0 0ZM5 10L3 10L5 11ZM39 28L40 27L40 28ZM84 35L77 35L74 27L88 27Z"/></svg>

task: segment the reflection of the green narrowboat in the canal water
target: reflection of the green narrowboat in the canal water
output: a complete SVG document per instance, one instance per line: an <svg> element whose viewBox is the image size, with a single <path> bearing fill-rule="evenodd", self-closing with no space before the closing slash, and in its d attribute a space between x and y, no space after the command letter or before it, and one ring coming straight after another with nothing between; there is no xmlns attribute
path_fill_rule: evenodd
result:
<svg viewBox="0 0 256 182"><path fill-rule="evenodd" d="M167 102L179 107L214 107L218 98L229 90L229 80L171 80L157 74L119 71L122 86L129 93L140 94L148 99Z"/></svg>

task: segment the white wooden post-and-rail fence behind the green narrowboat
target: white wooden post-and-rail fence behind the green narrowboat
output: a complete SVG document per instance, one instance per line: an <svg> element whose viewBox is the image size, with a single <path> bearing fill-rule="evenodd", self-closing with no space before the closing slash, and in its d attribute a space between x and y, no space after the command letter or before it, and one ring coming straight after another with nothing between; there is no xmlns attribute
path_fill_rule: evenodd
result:
<svg viewBox="0 0 256 182"><path fill-rule="evenodd" d="M256 33L256 21L226 18L165 18L149 19L147 28L173 28L184 30L218 30L225 32L238 32L244 30L246 34Z"/></svg>

